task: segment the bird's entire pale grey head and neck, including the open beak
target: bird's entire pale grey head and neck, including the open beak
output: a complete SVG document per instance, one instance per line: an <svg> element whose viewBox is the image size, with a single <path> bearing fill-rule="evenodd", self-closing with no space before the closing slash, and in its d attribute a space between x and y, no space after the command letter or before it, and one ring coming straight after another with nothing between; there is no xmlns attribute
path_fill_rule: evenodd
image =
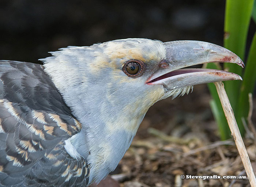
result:
<svg viewBox="0 0 256 187"><path fill-rule="evenodd" d="M184 95L195 84L241 80L222 70L182 68L208 62L244 66L231 51L200 41L121 39L71 46L52 55L43 60L45 71L83 125L86 140L72 144L94 163L96 181L104 176L102 171L116 167L155 102ZM109 169L102 170L101 160Z"/></svg>

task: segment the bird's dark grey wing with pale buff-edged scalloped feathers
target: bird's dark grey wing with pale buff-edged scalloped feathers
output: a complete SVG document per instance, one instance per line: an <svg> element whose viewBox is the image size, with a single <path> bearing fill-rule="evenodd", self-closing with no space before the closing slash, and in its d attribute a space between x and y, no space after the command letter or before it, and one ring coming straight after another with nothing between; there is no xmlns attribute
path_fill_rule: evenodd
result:
<svg viewBox="0 0 256 187"><path fill-rule="evenodd" d="M87 186L65 140L81 124L39 64L0 61L0 186Z"/></svg>

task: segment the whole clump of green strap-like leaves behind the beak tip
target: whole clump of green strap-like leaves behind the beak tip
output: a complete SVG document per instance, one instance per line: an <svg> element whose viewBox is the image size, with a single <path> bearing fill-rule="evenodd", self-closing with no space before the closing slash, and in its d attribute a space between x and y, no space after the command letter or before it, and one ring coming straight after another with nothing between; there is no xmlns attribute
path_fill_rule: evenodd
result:
<svg viewBox="0 0 256 187"><path fill-rule="evenodd" d="M247 34L251 19L256 14L255 0L226 0L224 22L224 47L236 53L245 63L244 71L235 64L224 64L224 69L242 76L243 81L226 81L225 89L242 135L245 128L242 119L247 119L249 112L248 94L255 89L256 81L256 33L252 41L247 41ZM254 19L255 20L255 19ZM246 42L251 44L248 57L245 58ZM212 68L217 65L209 64ZM208 84L213 100L211 108L218 123L222 140L230 138L230 130L223 113L217 91L213 84Z"/></svg>

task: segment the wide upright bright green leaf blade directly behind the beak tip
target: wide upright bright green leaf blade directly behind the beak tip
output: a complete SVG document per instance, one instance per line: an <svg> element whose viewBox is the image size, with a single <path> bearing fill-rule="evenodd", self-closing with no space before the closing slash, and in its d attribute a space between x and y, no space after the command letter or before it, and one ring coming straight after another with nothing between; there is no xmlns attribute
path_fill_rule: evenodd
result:
<svg viewBox="0 0 256 187"><path fill-rule="evenodd" d="M236 53L242 60L245 56L246 38L251 20L254 0L226 0L224 23L224 47ZM242 74L242 68L234 64L224 64L225 70ZM241 81L226 81L225 89L234 113L237 112L237 100ZM241 134L244 127L239 126Z"/></svg>

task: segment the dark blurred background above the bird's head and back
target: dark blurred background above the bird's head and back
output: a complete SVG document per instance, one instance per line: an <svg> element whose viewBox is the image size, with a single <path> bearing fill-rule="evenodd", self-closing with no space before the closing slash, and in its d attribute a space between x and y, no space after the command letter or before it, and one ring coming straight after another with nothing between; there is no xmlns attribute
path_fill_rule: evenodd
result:
<svg viewBox="0 0 256 187"><path fill-rule="evenodd" d="M37 62L48 51L121 38L223 43L224 0L1 0L0 59ZM251 41L255 24L249 33Z"/></svg>

